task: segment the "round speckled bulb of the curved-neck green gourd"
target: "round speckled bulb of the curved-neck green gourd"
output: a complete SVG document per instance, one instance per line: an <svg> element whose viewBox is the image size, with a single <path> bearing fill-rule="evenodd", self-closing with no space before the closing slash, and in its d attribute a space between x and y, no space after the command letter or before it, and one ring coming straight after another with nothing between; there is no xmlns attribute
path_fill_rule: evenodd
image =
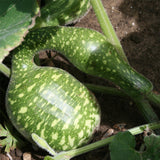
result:
<svg viewBox="0 0 160 160"><path fill-rule="evenodd" d="M24 137L31 141L31 133L36 133L56 151L74 149L90 140L100 123L100 110L84 85L58 68L12 71L7 113Z"/></svg>

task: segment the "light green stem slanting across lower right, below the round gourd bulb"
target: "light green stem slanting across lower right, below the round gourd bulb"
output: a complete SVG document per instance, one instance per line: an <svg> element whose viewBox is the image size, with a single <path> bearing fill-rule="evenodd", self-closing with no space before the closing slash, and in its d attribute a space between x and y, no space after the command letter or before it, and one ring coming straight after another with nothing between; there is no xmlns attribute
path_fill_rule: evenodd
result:
<svg viewBox="0 0 160 160"><path fill-rule="evenodd" d="M155 123L149 123L149 124L134 127L134 128L129 129L128 131L132 135L137 135L137 134L143 133L147 129L155 130L155 129L159 129L159 128L160 128L160 122L155 122ZM114 137L115 136L108 137L106 139L97 141L95 143L89 144L87 146L84 146L84 147L81 147L81 148L78 148L78 149L70 150L70 151L67 151L67 152L61 152L54 157L54 160L60 160L60 157L61 158L62 157L67 157L68 159L71 159L75 156L78 156L78 155L84 154L86 152L92 151L94 149L103 147L103 146L109 144L110 142L112 142Z"/></svg>

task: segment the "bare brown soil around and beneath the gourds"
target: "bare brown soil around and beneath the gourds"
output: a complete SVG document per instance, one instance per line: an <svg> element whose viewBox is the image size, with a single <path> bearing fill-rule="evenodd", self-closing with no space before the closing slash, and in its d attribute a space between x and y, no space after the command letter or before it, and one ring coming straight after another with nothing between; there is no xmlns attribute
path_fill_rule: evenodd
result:
<svg viewBox="0 0 160 160"><path fill-rule="evenodd" d="M102 2L130 65L151 80L154 85L154 91L160 92L160 1L102 0ZM92 28L102 32L92 9L75 26ZM42 56L41 58L44 57ZM112 86L111 82L81 73L61 57L57 57L54 61L46 60L45 58L45 64L46 62L50 66L56 65L66 69L82 82ZM2 109L4 108L7 84L8 79L3 74L0 74L0 105ZM135 104L130 99L102 93L95 93L95 96L101 106L102 120L92 142L110 136L117 131L145 123ZM20 160L24 153L29 153L32 156L32 160L43 159L45 154L34 151L28 146L27 148L13 150L10 155L13 160ZM0 160L6 160L7 158L1 149ZM106 146L73 159L110 160L110 156Z"/></svg>

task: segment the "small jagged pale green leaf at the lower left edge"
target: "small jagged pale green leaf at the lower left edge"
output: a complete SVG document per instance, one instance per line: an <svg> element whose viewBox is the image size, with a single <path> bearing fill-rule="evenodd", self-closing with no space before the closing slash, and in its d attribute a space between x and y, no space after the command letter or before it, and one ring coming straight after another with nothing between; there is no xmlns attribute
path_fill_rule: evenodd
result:
<svg viewBox="0 0 160 160"><path fill-rule="evenodd" d="M5 147L5 152L16 148L17 140L11 135L7 127L0 124L0 146Z"/></svg>

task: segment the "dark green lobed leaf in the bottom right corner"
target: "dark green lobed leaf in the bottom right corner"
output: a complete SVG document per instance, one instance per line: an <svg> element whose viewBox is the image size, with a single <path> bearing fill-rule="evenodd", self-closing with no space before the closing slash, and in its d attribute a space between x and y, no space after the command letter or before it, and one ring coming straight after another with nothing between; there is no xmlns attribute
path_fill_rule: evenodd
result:
<svg viewBox="0 0 160 160"><path fill-rule="evenodd" d="M160 136L152 134L145 137L144 142L146 150L138 152L130 132L118 133L109 146L111 160L160 160Z"/></svg>

